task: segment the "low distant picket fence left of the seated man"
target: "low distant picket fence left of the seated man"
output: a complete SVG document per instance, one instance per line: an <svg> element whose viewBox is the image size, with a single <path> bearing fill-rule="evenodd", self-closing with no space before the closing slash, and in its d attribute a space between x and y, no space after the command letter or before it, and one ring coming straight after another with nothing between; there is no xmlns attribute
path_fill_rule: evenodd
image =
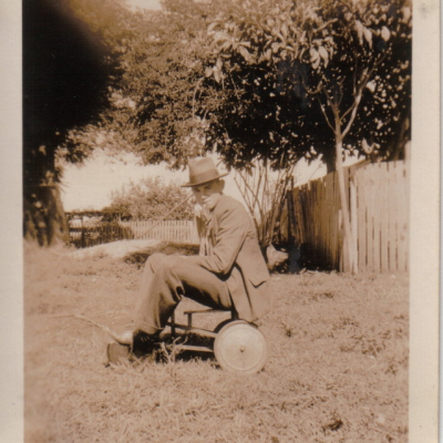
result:
<svg viewBox="0 0 443 443"><path fill-rule="evenodd" d="M122 239L148 239L198 244L196 224L193 220L112 222L73 219L70 222L71 244L78 248L112 243Z"/></svg>

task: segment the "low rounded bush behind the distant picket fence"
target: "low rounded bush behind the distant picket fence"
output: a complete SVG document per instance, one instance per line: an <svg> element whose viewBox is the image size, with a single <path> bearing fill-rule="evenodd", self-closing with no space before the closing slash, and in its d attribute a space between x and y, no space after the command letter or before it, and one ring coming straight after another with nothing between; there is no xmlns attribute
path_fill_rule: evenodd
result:
<svg viewBox="0 0 443 443"><path fill-rule="evenodd" d="M192 220L194 206L187 197L176 183L166 185L159 177L145 178L113 192L111 205L103 210L133 220L158 220L176 208L166 220Z"/></svg>

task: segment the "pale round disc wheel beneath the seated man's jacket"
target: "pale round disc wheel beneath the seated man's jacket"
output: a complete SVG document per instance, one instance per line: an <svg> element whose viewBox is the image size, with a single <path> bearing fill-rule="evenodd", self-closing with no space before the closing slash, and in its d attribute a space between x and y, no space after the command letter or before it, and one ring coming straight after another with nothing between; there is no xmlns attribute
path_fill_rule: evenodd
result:
<svg viewBox="0 0 443 443"><path fill-rule="evenodd" d="M265 367L269 347L266 337L255 324L235 320L218 331L214 353L222 369L251 374Z"/></svg>

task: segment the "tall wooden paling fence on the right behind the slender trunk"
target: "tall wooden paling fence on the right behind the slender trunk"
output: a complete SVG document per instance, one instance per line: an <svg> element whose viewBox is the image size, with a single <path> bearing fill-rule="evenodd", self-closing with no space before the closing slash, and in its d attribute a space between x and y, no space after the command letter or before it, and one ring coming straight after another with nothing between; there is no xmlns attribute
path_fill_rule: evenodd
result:
<svg viewBox="0 0 443 443"><path fill-rule="evenodd" d="M358 269L409 270L409 164L385 162L346 168ZM311 267L349 271L337 173L292 190L293 237Z"/></svg>

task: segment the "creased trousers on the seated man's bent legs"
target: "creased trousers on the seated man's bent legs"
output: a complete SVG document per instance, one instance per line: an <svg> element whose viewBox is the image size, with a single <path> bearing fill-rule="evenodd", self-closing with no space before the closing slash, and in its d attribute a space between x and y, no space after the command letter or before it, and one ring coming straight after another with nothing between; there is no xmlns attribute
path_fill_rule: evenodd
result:
<svg viewBox="0 0 443 443"><path fill-rule="evenodd" d="M233 306L227 284L215 274L181 256L152 255L143 270L135 329L148 334L162 331L183 296L210 308Z"/></svg>

